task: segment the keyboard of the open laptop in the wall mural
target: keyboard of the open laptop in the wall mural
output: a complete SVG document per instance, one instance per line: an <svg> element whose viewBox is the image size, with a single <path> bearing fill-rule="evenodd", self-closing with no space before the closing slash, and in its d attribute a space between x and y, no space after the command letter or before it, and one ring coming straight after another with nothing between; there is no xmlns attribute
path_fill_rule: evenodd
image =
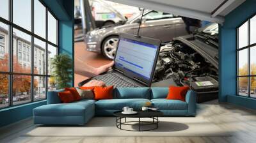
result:
<svg viewBox="0 0 256 143"><path fill-rule="evenodd" d="M115 87L139 87L138 85L134 84L133 82L124 79L120 75L116 73L108 73L104 75L98 75L97 77L93 78L96 80L100 80L105 82L107 86L115 86Z"/></svg>

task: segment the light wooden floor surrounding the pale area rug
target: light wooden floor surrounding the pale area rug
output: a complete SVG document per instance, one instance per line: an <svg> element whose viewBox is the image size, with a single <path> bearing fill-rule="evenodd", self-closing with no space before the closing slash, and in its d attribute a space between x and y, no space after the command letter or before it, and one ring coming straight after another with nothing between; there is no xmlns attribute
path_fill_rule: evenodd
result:
<svg viewBox="0 0 256 143"><path fill-rule="evenodd" d="M256 142L256 113L252 110L217 101L198 105L197 116L204 117L223 130L234 130L228 137L24 137L33 125L32 119L26 119L0 129L0 142L68 142L68 143L161 143L161 142ZM205 130L202 128L202 130ZM111 132L111 131L109 131Z"/></svg>

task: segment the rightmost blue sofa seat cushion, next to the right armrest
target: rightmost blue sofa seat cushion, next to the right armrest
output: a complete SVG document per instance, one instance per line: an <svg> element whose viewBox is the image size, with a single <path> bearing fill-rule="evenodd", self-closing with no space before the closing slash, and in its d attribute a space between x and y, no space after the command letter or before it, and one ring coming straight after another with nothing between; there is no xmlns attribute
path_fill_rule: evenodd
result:
<svg viewBox="0 0 256 143"><path fill-rule="evenodd" d="M166 100L166 99L153 99L151 100L154 107L158 107L159 110L187 110L188 103L180 100Z"/></svg>

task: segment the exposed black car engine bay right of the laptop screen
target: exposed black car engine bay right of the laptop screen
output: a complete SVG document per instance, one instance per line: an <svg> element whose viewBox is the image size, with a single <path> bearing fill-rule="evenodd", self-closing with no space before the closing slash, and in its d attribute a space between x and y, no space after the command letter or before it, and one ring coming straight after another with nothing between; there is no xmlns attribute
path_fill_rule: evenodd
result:
<svg viewBox="0 0 256 143"><path fill-rule="evenodd" d="M189 86L197 94L218 94L218 69L184 43L161 47L153 83L166 79L172 79L173 86Z"/></svg>

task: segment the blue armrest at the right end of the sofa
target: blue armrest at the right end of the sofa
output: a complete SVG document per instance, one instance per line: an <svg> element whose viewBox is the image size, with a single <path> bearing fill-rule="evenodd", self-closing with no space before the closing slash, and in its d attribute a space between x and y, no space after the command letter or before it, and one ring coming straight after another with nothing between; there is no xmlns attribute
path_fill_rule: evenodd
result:
<svg viewBox="0 0 256 143"><path fill-rule="evenodd" d="M196 115L196 93L195 91L189 90L186 94L186 103L188 103L188 115Z"/></svg>

